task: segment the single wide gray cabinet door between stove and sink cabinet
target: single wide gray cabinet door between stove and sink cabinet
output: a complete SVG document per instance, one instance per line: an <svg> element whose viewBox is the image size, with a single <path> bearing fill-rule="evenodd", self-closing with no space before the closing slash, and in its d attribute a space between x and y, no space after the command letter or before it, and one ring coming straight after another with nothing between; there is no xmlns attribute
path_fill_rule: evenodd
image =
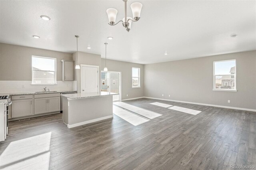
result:
<svg viewBox="0 0 256 170"><path fill-rule="evenodd" d="M13 100L12 118L33 115L33 99Z"/></svg>

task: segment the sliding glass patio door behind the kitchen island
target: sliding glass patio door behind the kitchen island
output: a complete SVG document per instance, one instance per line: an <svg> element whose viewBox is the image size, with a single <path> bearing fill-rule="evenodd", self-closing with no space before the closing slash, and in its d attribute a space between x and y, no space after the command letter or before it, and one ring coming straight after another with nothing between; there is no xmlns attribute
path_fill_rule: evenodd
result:
<svg viewBox="0 0 256 170"><path fill-rule="evenodd" d="M113 95L113 101L121 100L121 72L101 71L101 91L119 93Z"/></svg>

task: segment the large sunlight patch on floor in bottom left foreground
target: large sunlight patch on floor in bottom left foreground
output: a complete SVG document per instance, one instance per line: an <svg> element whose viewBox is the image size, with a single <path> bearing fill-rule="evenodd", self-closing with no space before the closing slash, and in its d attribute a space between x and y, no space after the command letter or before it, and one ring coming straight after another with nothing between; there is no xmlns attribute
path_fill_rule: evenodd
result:
<svg viewBox="0 0 256 170"><path fill-rule="evenodd" d="M51 132L48 132L10 142L0 155L0 168L21 169L20 166L23 164L26 165L25 169L37 169L39 167L44 169L43 167L46 167L46 164L49 166L50 152L48 151L50 150L51 134ZM49 159L47 160L47 158ZM32 161L33 164L28 166L29 164L26 162Z"/></svg>

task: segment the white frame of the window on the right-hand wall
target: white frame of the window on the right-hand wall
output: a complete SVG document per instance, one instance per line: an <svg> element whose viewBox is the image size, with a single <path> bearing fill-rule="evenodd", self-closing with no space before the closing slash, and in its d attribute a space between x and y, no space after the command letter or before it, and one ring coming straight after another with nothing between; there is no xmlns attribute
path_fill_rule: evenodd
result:
<svg viewBox="0 0 256 170"><path fill-rule="evenodd" d="M212 91L230 91L230 92L236 92L237 89L236 89L236 74L234 75L234 83L235 83L235 86L234 86L234 89L216 89L216 76L224 76L224 75L215 75L215 63L217 62L223 62L223 61L235 61L236 62L236 59L228 59L228 60L221 60L221 61L213 61L213 89ZM235 66L235 73L236 73L236 66ZM231 74L225 74L225 75L230 75Z"/></svg>

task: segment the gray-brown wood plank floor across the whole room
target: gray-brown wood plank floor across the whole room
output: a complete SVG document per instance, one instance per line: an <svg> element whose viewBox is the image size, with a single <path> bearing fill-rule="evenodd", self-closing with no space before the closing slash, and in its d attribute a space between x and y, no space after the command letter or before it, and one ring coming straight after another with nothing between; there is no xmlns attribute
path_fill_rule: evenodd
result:
<svg viewBox="0 0 256 170"><path fill-rule="evenodd" d="M191 115L150 104L154 102L201 113ZM71 129L62 122L62 114L12 121L0 153L10 142L51 132L49 169L216 170L234 164L256 168L255 112L154 99L125 103L162 116L133 126L114 115ZM26 163L26 158L22 161Z"/></svg>

